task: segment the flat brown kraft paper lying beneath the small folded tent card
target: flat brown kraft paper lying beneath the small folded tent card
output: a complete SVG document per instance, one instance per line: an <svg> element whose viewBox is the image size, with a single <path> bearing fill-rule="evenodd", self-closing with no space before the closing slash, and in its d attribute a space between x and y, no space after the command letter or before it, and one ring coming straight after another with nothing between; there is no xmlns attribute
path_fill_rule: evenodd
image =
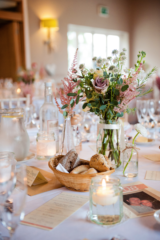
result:
<svg viewBox="0 0 160 240"><path fill-rule="evenodd" d="M63 185L58 181L58 179L56 178L56 176L54 175L54 173L51 172L47 172L43 169L40 168L36 168L33 167L32 168L38 170L39 172L41 172L41 174L43 174L43 176L48 180L48 182L42 183L42 184L38 184L38 185L32 185L31 187L28 186L28 191L27 194L29 196L34 196L43 192L48 192L51 191L53 189L57 189L57 188L61 188L63 187Z"/></svg>

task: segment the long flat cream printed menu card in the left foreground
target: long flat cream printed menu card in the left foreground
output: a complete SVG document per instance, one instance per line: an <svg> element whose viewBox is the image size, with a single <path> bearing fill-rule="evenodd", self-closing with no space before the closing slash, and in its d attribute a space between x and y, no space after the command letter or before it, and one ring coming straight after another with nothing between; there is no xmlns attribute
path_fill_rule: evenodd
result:
<svg viewBox="0 0 160 240"><path fill-rule="evenodd" d="M88 202L88 196L62 192L33 212L21 224L52 230Z"/></svg>

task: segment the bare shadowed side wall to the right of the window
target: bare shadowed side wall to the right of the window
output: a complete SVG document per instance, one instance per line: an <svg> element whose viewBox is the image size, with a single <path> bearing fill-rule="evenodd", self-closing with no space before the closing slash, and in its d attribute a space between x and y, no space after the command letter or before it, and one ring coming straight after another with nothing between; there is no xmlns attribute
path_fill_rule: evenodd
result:
<svg viewBox="0 0 160 240"><path fill-rule="evenodd" d="M147 53L149 67L160 68L160 0L134 0L130 5L130 62L138 51Z"/></svg>

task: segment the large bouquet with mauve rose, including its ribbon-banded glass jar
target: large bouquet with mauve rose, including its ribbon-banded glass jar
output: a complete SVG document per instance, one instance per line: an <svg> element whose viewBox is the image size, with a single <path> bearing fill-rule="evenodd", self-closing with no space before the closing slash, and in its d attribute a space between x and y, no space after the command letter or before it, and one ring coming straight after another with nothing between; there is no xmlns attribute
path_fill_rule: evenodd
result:
<svg viewBox="0 0 160 240"><path fill-rule="evenodd" d="M120 124L118 119L124 112L132 112L128 104L151 91L144 92L148 77L155 71L153 68L143 79L140 77L143 59L146 53L138 53L138 60L134 68L124 69L126 49L120 53L112 51L112 57L107 59L93 58L96 69L86 69L85 64L80 64L81 76L77 83L81 94L86 96L83 109L95 113L100 117L99 134L97 138L97 152L107 155L114 160L115 167L121 165L120 159Z"/></svg>

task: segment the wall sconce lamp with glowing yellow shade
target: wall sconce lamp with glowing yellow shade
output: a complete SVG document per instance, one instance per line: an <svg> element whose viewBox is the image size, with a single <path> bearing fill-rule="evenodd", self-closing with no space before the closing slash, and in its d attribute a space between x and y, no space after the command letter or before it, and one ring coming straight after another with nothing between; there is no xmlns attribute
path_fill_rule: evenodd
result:
<svg viewBox="0 0 160 240"><path fill-rule="evenodd" d="M54 31L57 31L59 29L58 20L57 19L42 19L41 20L41 27L48 28L48 38L46 41L44 41L45 44L48 45L48 49L53 50L53 42L51 40L51 28L54 29Z"/></svg>

